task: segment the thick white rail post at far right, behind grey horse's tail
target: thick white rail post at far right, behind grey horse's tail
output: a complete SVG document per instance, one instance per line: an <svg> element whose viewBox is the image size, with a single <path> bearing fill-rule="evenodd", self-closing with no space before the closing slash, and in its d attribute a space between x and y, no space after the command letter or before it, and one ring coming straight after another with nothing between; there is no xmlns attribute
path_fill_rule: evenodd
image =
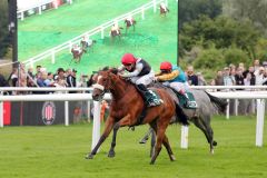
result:
<svg viewBox="0 0 267 178"><path fill-rule="evenodd" d="M257 99L256 147L264 145L265 100Z"/></svg>

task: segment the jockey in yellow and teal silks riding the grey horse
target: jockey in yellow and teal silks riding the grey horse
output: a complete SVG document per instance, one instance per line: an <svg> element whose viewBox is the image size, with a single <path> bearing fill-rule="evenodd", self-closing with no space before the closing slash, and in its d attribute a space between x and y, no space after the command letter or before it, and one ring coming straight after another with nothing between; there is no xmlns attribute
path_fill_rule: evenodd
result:
<svg viewBox="0 0 267 178"><path fill-rule="evenodd" d="M187 83L186 75L180 67L174 66L168 61L161 62L160 73L156 75L156 79L164 82L166 86L170 86L170 88L185 96L187 99L186 105L189 105L190 100L186 93L189 87Z"/></svg>

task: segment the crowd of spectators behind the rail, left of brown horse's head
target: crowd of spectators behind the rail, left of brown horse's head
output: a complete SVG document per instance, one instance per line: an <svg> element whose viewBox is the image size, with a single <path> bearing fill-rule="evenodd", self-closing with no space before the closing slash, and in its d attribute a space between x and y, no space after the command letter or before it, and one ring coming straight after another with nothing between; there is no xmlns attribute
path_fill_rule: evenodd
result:
<svg viewBox="0 0 267 178"><path fill-rule="evenodd" d="M88 76L81 75L79 80L77 79L76 69L58 68L57 71L48 71L44 67L37 66L36 71L33 68L26 70L23 65L20 68L14 68L9 75L8 79L4 79L0 75L0 87L88 87ZM75 92L75 91L71 91ZM46 91L36 91L32 93L47 93Z"/></svg>

